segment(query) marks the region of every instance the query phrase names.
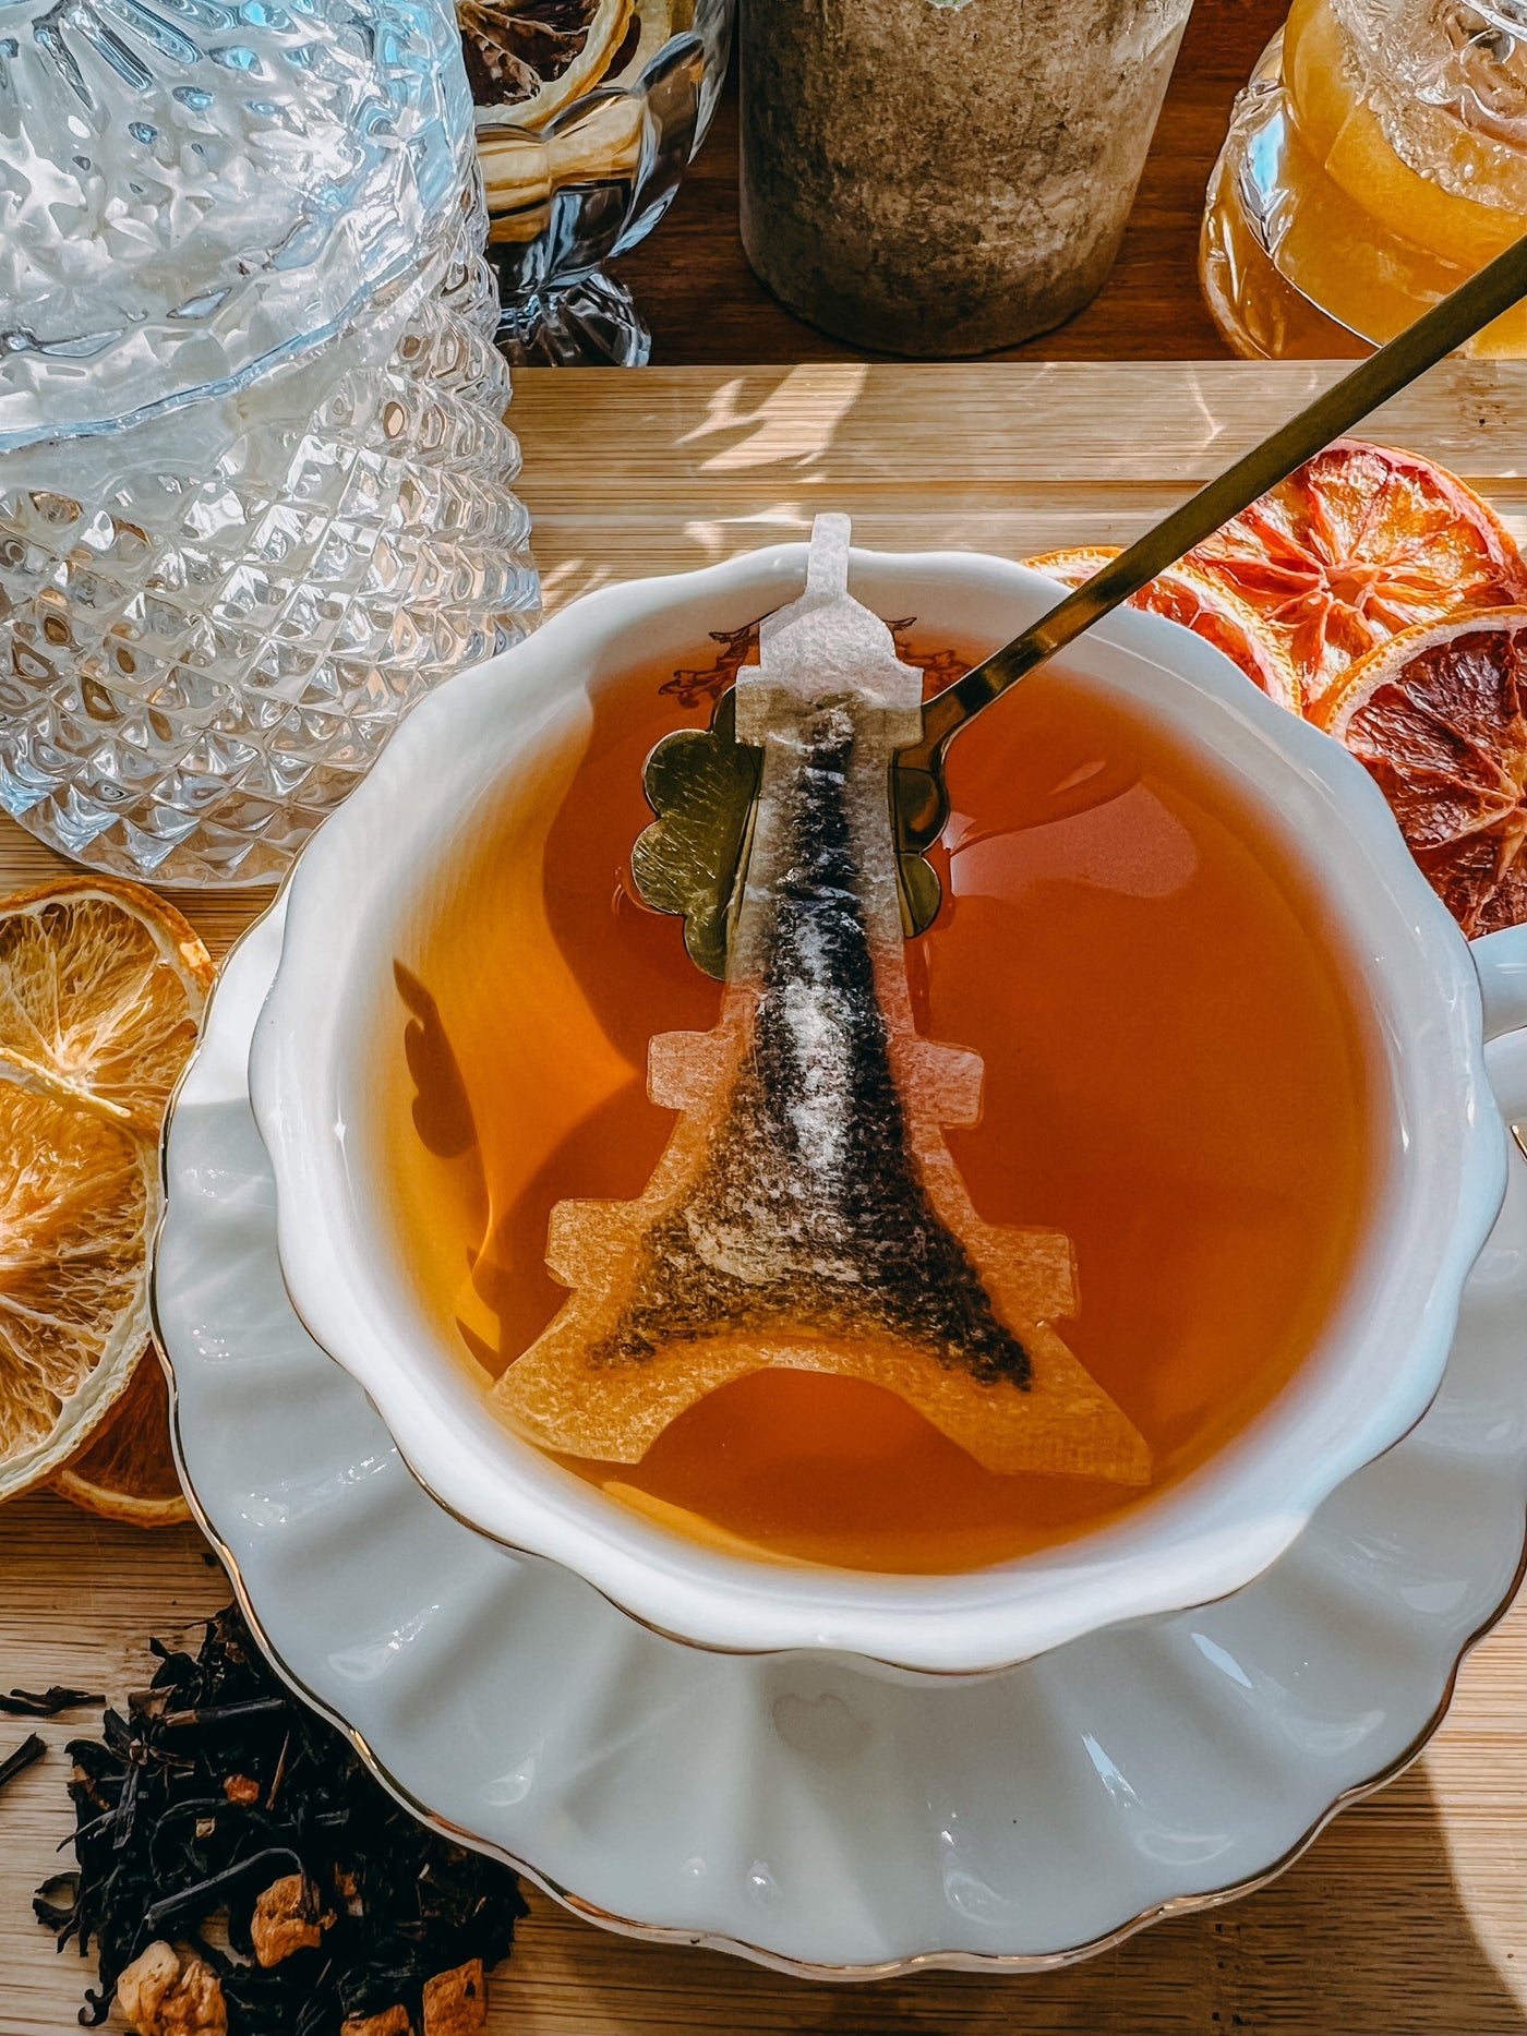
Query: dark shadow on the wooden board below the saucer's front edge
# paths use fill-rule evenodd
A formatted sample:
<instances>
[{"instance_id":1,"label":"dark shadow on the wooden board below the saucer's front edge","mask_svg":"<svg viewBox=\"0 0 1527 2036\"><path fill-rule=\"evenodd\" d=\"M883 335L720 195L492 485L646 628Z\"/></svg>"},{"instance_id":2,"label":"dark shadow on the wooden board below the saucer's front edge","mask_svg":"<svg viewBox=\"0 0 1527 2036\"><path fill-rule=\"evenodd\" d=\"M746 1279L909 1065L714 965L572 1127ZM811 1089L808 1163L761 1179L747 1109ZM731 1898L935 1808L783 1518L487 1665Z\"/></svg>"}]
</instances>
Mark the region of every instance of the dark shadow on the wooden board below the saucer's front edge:
<instances>
[{"instance_id":1,"label":"dark shadow on the wooden board below the saucer's front edge","mask_svg":"<svg viewBox=\"0 0 1527 2036\"><path fill-rule=\"evenodd\" d=\"M521 2020L521 1985L533 2024ZM566 2022L548 2016L558 1997L574 2010ZM1527 2014L1470 1924L1419 1763L1262 1893L1034 1977L808 1985L717 1953L609 1938L538 1896L495 1981L493 2030L529 2026L546 2036L1517 2036Z\"/></svg>"}]
</instances>

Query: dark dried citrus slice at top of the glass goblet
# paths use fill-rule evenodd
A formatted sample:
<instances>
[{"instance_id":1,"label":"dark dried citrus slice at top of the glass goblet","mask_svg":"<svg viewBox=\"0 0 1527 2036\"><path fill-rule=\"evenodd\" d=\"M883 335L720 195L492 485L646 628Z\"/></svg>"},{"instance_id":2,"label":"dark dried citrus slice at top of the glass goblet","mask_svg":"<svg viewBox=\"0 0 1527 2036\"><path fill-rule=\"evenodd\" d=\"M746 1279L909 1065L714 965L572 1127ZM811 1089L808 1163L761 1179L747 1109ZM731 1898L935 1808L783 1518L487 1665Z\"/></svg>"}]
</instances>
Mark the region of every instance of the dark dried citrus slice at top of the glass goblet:
<instances>
[{"instance_id":1,"label":"dark dried citrus slice at top of the glass goblet","mask_svg":"<svg viewBox=\"0 0 1527 2036\"><path fill-rule=\"evenodd\" d=\"M472 100L544 126L623 53L633 0L458 0Z\"/></svg>"}]
</instances>

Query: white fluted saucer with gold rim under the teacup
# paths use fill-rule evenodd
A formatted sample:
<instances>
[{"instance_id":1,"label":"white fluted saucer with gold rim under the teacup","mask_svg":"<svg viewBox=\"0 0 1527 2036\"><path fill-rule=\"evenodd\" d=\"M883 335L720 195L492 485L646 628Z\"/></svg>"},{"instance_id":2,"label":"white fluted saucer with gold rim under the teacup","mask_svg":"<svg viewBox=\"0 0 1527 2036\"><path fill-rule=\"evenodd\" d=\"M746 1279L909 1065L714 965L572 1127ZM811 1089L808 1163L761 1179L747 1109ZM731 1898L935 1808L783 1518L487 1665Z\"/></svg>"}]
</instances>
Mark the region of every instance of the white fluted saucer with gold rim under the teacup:
<instances>
[{"instance_id":1,"label":"white fluted saucer with gold rim under the teacup","mask_svg":"<svg viewBox=\"0 0 1527 2036\"><path fill-rule=\"evenodd\" d=\"M167 1140L177 1450L273 1661L419 1814L615 1928L871 1979L1228 1900L1421 1751L1523 1553L1519 1154L1437 1403L1248 1588L969 1684L702 1653L444 1513L297 1323L246 1081L281 930L228 963ZM1523 1024L1527 935L1494 943ZM1488 1063L1527 1118L1527 1032Z\"/></svg>"}]
</instances>

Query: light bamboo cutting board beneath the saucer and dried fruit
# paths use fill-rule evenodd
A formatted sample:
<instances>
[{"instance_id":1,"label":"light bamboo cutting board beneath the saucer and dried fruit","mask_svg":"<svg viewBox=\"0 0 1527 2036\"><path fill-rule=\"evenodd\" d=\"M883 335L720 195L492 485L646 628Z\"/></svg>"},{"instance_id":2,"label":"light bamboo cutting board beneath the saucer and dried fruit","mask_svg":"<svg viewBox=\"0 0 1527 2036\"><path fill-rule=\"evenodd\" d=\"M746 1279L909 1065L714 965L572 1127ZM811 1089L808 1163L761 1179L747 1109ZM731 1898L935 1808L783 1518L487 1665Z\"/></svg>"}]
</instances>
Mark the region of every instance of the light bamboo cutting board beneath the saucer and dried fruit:
<instances>
[{"instance_id":1,"label":"light bamboo cutting board beneath the saucer and dried fruit","mask_svg":"<svg viewBox=\"0 0 1527 2036\"><path fill-rule=\"evenodd\" d=\"M548 607L796 538L847 509L861 544L1022 558L1120 542L1336 371L1307 362L535 371L511 421ZM1452 466L1527 546L1527 375L1450 362L1370 436ZM63 863L0 823L0 892ZM224 945L257 898L177 900ZM0 1690L122 1694L149 1633L226 1602L193 1529L143 1535L51 1496L0 1513ZM0 1718L0 1755L31 1727ZM65 2036L94 1967L31 1920L71 1828L57 1749L0 1796L0 2036ZM116 2022L112 2026L118 2026ZM818 1987L605 1936L533 1898L491 2036L1527 2036L1527 1606L1464 1670L1429 1753L1281 1881L1083 1967Z\"/></svg>"}]
</instances>

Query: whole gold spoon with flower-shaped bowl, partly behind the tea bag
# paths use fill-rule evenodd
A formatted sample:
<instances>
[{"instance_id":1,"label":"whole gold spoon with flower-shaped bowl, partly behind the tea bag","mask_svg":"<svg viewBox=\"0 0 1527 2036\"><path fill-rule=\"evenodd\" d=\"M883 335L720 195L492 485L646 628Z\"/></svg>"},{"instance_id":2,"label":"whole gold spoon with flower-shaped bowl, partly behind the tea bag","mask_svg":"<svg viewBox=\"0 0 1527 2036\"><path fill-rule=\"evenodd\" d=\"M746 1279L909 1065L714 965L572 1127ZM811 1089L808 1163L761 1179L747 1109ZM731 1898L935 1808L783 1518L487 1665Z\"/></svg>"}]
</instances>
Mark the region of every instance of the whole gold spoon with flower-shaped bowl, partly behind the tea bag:
<instances>
[{"instance_id":1,"label":"whole gold spoon with flower-shaped bowl, partly behind the tea bag","mask_svg":"<svg viewBox=\"0 0 1527 2036\"><path fill-rule=\"evenodd\" d=\"M1315 397L1297 417L1279 426L1260 446L1252 446L1012 643L1004 643L924 702L922 737L898 751L890 774L902 926L908 939L924 932L939 912L939 878L926 851L949 821L945 755L955 735L1020 678L1130 595L1138 595L1195 544L1211 538L1521 297L1527 297L1527 236ZM656 821L631 849L631 875L649 906L682 914L690 959L715 977L727 973L727 939L739 878L747 867L759 761L761 749L737 741L735 700L727 690L717 700L709 729L666 735L643 772Z\"/></svg>"}]
</instances>

